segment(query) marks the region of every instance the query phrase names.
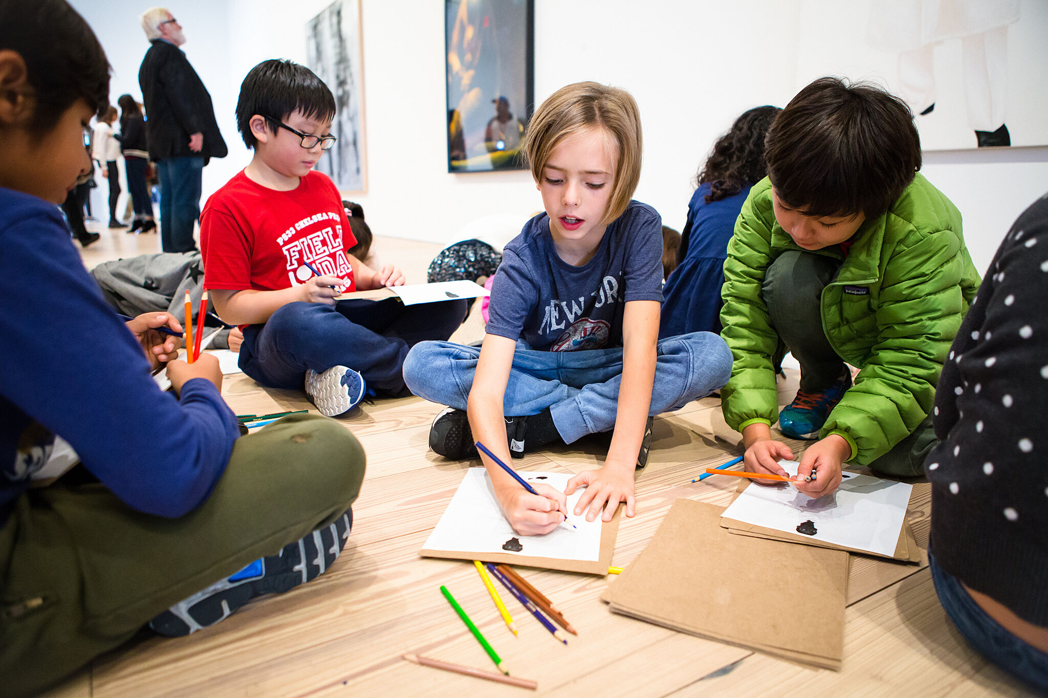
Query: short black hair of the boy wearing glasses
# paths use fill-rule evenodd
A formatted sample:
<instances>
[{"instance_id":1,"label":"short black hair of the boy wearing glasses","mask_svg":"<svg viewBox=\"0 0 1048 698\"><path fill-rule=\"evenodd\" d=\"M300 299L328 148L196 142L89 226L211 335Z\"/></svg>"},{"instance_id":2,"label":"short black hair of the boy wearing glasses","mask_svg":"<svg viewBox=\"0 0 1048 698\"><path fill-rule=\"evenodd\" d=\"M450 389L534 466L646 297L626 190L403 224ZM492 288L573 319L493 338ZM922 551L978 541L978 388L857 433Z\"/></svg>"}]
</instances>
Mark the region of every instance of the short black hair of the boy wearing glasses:
<instances>
[{"instance_id":1,"label":"short black hair of the boy wearing glasses","mask_svg":"<svg viewBox=\"0 0 1048 698\"><path fill-rule=\"evenodd\" d=\"M268 128L279 128L271 119L283 121L293 112L307 118L334 118L334 95L312 70L291 61L271 59L248 71L240 85L237 99L237 130L247 148L258 140L252 133L250 120L256 114L266 117Z\"/></svg>"}]
</instances>

